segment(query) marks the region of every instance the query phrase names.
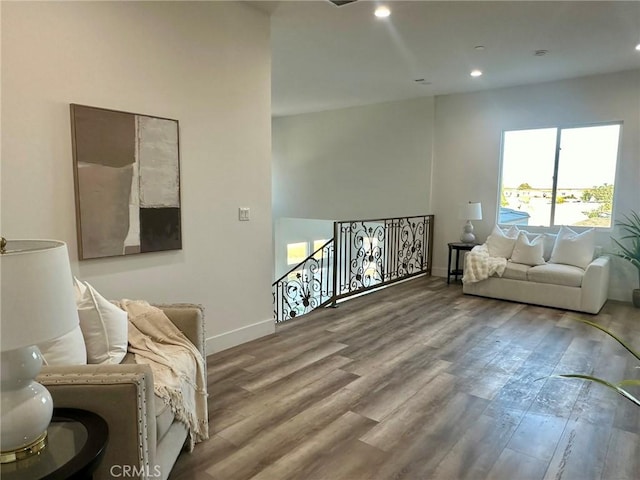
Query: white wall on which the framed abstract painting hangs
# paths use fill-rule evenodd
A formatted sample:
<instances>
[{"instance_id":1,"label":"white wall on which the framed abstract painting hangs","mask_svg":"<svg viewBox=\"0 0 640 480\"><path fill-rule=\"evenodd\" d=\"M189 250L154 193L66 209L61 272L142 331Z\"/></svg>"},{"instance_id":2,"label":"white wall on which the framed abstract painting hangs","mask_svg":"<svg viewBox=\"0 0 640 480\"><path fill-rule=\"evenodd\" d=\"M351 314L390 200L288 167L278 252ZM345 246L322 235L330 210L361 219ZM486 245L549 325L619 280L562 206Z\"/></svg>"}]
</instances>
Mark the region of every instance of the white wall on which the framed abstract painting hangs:
<instances>
[{"instance_id":1,"label":"white wall on which the framed abstract painting hangs","mask_svg":"<svg viewBox=\"0 0 640 480\"><path fill-rule=\"evenodd\" d=\"M108 298L203 304L210 351L273 332L270 56L239 2L3 2L2 234L65 240ZM181 251L78 262L70 103L179 120Z\"/></svg>"}]
</instances>

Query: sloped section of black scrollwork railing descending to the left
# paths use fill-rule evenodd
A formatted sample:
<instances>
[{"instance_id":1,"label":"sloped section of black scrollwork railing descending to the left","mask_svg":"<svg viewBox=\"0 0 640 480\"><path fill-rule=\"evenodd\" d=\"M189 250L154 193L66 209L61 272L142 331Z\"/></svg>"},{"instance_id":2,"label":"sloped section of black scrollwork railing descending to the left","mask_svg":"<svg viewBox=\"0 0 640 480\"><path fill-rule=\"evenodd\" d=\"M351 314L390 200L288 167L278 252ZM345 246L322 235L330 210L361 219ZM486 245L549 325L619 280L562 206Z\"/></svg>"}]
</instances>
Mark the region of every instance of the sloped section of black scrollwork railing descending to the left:
<instances>
[{"instance_id":1,"label":"sloped section of black scrollwork railing descending to the left","mask_svg":"<svg viewBox=\"0 0 640 480\"><path fill-rule=\"evenodd\" d=\"M273 284L273 313L277 323L309 313L331 301L333 250L333 240L329 240Z\"/></svg>"}]
</instances>

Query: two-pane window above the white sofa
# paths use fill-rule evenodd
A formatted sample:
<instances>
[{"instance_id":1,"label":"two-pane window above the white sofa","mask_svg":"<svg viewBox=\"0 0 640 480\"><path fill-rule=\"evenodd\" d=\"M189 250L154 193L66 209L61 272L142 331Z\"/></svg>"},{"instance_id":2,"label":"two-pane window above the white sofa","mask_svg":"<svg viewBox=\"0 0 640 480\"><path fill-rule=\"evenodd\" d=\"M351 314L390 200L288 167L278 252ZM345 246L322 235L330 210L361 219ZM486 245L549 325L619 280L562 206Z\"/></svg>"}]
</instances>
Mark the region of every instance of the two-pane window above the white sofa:
<instances>
[{"instance_id":1,"label":"two-pane window above the white sofa","mask_svg":"<svg viewBox=\"0 0 640 480\"><path fill-rule=\"evenodd\" d=\"M611 227L620 130L505 131L498 223Z\"/></svg>"}]
</instances>

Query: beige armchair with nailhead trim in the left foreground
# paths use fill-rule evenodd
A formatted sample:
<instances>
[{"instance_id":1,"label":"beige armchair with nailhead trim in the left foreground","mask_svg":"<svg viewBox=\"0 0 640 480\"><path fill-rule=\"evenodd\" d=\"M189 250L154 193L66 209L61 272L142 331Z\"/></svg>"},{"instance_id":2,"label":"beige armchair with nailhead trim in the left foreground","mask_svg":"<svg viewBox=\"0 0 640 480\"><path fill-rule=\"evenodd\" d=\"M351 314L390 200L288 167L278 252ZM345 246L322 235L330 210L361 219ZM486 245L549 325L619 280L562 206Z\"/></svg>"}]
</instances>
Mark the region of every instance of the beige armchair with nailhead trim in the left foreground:
<instances>
[{"instance_id":1,"label":"beige armchair with nailhead trim in the left foreground","mask_svg":"<svg viewBox=\"0 0 640 480\"><path fill-rule=\"evenodd\" d=\"M186 304L160 308L205 358L202 308ZM45 366L38 381L51 392L55 407L89 410L109 425L109 443L94 479L169 476L187 428L154 395L149 366L134 363L127 354L119 365Z\"/></svg>"}]
</instances>

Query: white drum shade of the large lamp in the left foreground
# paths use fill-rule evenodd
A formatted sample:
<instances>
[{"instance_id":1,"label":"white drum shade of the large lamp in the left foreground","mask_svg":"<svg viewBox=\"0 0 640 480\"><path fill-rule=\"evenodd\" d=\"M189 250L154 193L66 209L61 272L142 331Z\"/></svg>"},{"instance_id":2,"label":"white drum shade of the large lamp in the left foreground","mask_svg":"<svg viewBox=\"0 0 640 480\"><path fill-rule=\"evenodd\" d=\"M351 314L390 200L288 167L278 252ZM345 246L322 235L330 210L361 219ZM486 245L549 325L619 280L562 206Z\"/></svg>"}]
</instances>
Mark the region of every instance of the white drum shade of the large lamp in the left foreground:
<instances>
[{"instance_id":1,"label":"white drum shade of the large lamp in the left foreground","mask_svg":"<svg viewBox=\"0 0 640 480\"><path fill-rule=\"evenodd\" d=\"M0 254L1 348L37 345L79 323L67 245L56 240L9 240Z\"/></svg>"}]
</instances>

